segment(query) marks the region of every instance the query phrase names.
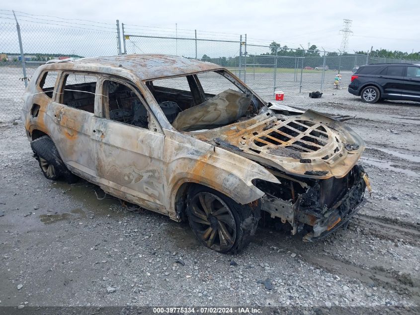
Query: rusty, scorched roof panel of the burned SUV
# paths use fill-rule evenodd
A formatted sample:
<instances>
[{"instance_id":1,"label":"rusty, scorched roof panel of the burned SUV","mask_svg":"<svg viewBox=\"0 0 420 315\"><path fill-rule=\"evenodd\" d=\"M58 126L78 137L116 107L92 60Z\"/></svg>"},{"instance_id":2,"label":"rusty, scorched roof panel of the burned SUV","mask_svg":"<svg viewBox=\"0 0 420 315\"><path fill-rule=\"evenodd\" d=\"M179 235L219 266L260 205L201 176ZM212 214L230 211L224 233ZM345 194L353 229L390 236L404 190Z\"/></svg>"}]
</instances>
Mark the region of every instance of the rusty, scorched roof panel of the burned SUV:
<instances>
[{"instance_id":1,"label":"rusty, scorched roof panel of the burned SUV","mask_svg":"<svg viewBox=\"0 0 420 315\"><path fill-rule=\"evenodd\" d=\"M123 68L136 75L141 80L182 76L191 73L223 69L223 67L205 61L184 58L180 56L158 54L133 54L105 57L89 57L68 62L80 68L83 65L98 66L102 72L115 72ZM112 68L112 69L109 69Z\"/></svg>"}]
</instances>

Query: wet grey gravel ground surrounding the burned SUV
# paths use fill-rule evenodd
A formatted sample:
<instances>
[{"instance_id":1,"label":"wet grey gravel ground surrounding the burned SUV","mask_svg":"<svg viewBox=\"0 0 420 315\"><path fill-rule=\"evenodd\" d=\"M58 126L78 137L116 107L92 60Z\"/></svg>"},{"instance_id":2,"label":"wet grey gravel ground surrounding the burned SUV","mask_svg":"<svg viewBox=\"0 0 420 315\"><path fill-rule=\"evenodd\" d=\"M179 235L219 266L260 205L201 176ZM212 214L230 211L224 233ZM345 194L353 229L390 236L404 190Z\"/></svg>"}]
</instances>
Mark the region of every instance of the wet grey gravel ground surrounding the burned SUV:
<instances>
[{"instance_id":1,"label":"wet grey gravel ground surrounding the burned SUV","mask_svg":"<svg viewBox=\"0 0 420 315\"><path fill-rule=\"evenodd\" d=\"M325 240L261 227L235 256L199 245L186 223L99 201L85 181L48 181L10 113L0 123L0 306L418 306L420 104L367 105L332 84L321 99L290 92L283 104L356 115L348 124L366 142L372 196Z\"/></svg>"}]
</instances>

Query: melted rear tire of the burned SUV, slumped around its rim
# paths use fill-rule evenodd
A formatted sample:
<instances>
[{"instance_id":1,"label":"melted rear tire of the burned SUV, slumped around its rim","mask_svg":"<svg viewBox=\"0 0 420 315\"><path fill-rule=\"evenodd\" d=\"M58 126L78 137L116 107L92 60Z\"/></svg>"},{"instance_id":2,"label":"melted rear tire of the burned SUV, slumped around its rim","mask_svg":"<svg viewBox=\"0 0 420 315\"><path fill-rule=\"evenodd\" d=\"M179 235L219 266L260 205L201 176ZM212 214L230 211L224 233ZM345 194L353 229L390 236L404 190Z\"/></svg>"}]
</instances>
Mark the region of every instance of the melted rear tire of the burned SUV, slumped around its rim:
<instances>
[{"instance_id":1,"label":"melted rear tire of the burned SUV, slumped around its rim","mask_svg":"<svg viewBox=\"0 0 420 315\"><path fill-rule=\"evenodd\" d=\"M64 178L68 183L75 183L78 180L78 177L64 164L63 160L58 153L57 147L55 146L53 140L49 136L39 137L31 142L32 151L35 153L35 158L39 162L44 176L49 180L57 180L59 178ZM54 166L54 175L48 174L44 171L41 165L41 159L47 161L49 164Z\"/></svg>"}]
</instances>

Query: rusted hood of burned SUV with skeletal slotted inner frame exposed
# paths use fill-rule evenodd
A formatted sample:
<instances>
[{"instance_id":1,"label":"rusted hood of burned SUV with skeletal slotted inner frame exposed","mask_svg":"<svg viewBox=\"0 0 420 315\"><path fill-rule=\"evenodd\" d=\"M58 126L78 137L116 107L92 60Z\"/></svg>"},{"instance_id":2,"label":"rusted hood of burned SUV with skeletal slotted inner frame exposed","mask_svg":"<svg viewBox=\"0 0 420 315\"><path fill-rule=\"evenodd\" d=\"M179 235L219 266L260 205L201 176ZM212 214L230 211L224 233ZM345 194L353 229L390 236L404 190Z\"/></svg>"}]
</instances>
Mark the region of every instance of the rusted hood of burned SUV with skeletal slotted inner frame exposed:
<instances>
[{"instance_id":1,"label":"rusted hood of burned SUV with skeletal slotted inner frame exposed","mask_svg":"<svg viewBox=\"0 0 420 315\"><path fill-rule=\"evenodd\" d=\"M314 110L283 115L268 109L246 121L189 134L260 164L309 178L345 176L365 147L344 122Z\"/></svg>"}]
</instances>

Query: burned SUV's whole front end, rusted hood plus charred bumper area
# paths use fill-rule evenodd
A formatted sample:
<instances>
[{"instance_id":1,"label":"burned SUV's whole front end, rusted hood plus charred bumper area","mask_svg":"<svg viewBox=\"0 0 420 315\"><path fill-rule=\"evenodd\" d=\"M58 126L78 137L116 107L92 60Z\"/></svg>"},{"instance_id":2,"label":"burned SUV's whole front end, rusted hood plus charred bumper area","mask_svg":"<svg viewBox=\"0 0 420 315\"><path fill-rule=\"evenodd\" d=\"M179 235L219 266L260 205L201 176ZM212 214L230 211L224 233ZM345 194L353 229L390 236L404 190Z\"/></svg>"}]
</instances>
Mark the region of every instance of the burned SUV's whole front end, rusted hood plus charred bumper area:
<instances>
[{"instance_id":1,"label":"burned SUV's whole front end, rusted hood plus charred bumper area","mask_svg":"<svg viewBox=\"0 0 420 315\"><path fill-rule=\"evenodd\" d=\"M313 241L345 224L370 189L363 168L356 165L364 142L332 117L275 108L190 134L264 166L280 184L253 180L265 193L262 210L290 224L292 234L306 231L304 240Z\"/></svg>"}]
</instances>

